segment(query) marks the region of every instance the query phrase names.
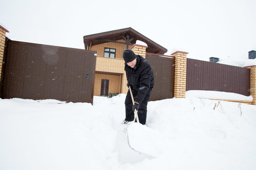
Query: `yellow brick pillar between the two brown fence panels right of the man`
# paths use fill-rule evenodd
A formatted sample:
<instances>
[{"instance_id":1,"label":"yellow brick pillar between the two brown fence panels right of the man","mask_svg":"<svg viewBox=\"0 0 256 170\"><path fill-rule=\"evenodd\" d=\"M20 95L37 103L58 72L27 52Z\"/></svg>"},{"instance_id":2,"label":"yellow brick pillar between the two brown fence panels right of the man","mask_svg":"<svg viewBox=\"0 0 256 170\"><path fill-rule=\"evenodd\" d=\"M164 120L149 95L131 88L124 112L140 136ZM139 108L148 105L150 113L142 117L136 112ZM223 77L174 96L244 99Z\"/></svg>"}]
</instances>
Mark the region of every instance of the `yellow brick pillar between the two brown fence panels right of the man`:
<instances>
[{"instance_id":1,"label":"yellow brick pillar between the two brown fence panels right of the man","mask_svg":"<svg viewBox=\"0 0 256 170\"><path fill-rule=\"evenodd\" d=\"M186 73L187 73L187 54L177 51L171 54L175 57L175 76L174 76L174 97L185 98L186 93Z\"/></svg>"}]
</instances>

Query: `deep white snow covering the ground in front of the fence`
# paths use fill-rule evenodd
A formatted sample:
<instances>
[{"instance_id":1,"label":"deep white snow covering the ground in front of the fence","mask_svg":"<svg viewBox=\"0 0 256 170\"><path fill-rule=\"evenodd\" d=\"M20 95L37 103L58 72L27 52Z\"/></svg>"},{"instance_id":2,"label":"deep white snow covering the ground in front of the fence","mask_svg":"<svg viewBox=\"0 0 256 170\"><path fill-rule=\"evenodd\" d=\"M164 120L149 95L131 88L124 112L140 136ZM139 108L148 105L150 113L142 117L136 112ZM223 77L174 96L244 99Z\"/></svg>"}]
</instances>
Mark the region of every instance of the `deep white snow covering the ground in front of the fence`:
<instances>
[{"instance_id":1,"label":"deep white snow covering the ground in front of the fence","mask_svg":"<svg viewBox=\"0 0 256 170\"><path fill-rule=\"evenodd\" d=\"M149 102L154 133L143 133L141 150L154 147L152 158L129 147L124 99L0 99L0 169L256 169L256 106L194 96ZM129 135L142 135L132 125Z\"/></svg>"}]
</instances>

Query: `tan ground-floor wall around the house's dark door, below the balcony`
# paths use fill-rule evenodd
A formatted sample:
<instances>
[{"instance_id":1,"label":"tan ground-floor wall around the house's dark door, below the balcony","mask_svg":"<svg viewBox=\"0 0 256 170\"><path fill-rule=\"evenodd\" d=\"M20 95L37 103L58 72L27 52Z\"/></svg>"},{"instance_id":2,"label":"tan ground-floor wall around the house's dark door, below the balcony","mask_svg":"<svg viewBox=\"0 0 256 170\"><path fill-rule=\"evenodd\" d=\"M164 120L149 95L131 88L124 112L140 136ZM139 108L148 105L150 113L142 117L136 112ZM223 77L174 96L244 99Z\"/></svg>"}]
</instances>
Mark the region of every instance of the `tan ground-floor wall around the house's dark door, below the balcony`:
<instances>
[{"instance_id":1,"label":"tan ground-floor wall around the house's dark door, below the balcony","mask_svg":"<svg viewBox=\"0 0 256 170\"><path fill-rule=\"evenodd\" d=\"M100 95L101 80L109 80L109 93L120 93L121 75L95 74L94 95Z\"/></svg>"}]
</instances>

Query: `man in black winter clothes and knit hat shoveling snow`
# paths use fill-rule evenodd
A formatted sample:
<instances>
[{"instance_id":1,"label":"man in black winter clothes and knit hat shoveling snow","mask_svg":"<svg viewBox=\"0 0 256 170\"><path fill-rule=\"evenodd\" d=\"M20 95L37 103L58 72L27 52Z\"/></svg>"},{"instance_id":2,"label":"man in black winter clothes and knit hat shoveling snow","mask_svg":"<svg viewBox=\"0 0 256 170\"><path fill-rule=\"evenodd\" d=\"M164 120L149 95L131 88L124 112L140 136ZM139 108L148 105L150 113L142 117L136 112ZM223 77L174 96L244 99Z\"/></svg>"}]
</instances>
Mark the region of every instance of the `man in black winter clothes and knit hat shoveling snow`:
<instances>
[{"instance_id":1,"label":"man in black winter clothes and knit hat shoveling snow","mask_svg":"<svg viewBox=\"0 0 256 170\"><path fill-rule=\"evenodd\" d=\"M140 55L136 55L132 50L123 51L125 61L124 70L126 72L127 86L131 91L127 92L125 98L125 119L123 124L134 120L134 111L138 111L138 119L142 125L146 123L147 102L150 99L152 88L154 87L154 74L150 63ZM134 96L134 104L132 101Z\"/></svg>"}]
</instances>

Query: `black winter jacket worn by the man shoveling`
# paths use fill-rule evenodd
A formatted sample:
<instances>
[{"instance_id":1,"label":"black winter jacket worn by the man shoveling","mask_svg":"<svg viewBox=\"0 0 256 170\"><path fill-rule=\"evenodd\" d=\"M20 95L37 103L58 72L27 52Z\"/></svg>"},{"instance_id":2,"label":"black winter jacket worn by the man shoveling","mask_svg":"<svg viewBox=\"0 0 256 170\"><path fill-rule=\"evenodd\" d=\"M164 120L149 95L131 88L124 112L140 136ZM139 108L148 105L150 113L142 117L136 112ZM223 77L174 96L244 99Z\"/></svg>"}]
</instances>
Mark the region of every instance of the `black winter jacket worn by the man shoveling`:
<instances>
[{"instance_id":1,"label":"black winter jacket worn by the man shoveling","mask_svg":"<svg viewBox=\"0 0 256 170\"><path fill-rule=\"evenodd\" d=\"M137 62L134 68L125 64L127 86L137 93L135 102L143 101L148 89L154 87L154 74L150 63L142 56L137 55Z\"/></svg>"}]
</instances>

